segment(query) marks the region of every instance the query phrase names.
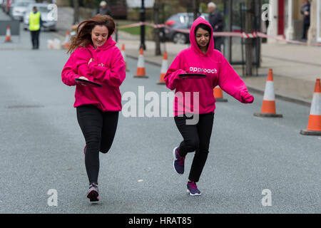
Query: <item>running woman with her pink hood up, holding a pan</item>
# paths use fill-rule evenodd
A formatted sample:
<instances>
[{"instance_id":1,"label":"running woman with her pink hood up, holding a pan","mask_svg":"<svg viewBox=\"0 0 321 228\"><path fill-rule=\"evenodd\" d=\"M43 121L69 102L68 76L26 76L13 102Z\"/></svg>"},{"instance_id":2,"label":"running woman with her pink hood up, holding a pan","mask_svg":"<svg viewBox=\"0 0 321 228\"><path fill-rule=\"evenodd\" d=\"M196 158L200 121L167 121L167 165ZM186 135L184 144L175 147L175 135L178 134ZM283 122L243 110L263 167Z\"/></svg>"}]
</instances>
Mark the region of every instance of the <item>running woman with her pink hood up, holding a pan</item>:
<instances>
[{"instance_id":1,"label":"running woman with her pink hood up, holding a pan","mask_svg":"<svg viewBox=\"0 0 321 228\"><path fill-rule=\"evenodd\" d=\"M187 189L190 195L200 195L196 182L210 147L215 110L213 88L220 86L241 103L253 103L254 98L222 53L214 49L213 28L208 21L199 17L193 22L190 44L190 48L178 53L164 81L170 90L175 90L174 119L183 136L183 141L173 150L173 167L183 175L185 156L195 151ZM185 73L200 73L206 77L179 76Z\"/></svg>"}]
</instances>

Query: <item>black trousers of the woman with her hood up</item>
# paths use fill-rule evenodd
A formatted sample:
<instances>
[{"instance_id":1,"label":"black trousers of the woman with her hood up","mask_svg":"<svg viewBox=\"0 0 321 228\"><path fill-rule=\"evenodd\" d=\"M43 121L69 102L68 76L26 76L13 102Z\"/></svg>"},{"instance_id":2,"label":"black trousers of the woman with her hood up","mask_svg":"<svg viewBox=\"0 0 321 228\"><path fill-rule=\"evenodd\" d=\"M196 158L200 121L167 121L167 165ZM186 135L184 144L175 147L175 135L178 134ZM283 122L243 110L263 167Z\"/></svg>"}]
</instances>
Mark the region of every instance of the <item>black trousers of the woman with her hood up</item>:
<instances>
[{"instance_id":1,"label":"black trousers of the woman with her hood up","mask_svg":"<svg viewBox=\"0 0 321 228\"><path fill-rule=\"evenodd\" d=\"M195 151L188 179L198 182L208 158L214 113L200 114L198 123L195 125L186 125L186 119L188 118L185 115L183 117L175 116L174 119L180 134L183 136L183 142L180 142L178 153L185 157L188 152Z\"/></svg>"}]
</instances>

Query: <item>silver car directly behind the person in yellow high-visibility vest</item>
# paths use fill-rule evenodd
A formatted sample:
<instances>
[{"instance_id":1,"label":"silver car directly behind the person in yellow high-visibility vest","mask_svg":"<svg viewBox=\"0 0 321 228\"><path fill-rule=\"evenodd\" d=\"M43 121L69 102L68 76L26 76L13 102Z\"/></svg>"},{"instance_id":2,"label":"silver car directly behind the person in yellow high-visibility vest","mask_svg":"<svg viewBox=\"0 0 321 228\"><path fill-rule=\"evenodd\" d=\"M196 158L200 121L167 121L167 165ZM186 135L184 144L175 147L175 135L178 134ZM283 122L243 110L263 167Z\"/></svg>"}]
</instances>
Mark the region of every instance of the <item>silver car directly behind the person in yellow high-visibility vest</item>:
<instances>
[{"instance_id":1,"label":"silver car directly behind the person in yellow high-visibility vest","mask_svg":"<svg viewBox=\"0 0 321 228\"><path fill-rule=\"evenodd\" d=\"M49 9L50 4L29 4L28 9L26 10L26 14L24 14L24 30L29 30L29 16L32 12L34 6L38 8L41 14L42 20L42 29L43 30L51 30L56 31L56 21L52 18L51 10Z\"/></svg>"}]
</instances>

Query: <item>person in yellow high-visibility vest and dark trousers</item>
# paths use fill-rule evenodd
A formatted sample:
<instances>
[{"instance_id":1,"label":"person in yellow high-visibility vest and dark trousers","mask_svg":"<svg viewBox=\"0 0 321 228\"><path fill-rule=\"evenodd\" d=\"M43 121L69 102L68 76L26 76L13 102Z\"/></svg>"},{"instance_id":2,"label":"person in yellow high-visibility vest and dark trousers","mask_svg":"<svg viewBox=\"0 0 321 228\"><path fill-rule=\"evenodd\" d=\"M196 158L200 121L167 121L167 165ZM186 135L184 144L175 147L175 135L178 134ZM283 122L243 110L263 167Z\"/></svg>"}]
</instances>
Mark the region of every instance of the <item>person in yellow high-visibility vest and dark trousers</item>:
<instances>
[{"instance_id":1,"label":"person in yellow high-visibility vest and dark trousers","mask_svg":"<svg viewBox=\"0 0 321 228\"><path fill-rule=\"evenodd\" d=\"M32 49L39 49L39 34L41 30L41 14L34 6L29 15L29 31L31 32Z\"/></svg>"}]
</instances>

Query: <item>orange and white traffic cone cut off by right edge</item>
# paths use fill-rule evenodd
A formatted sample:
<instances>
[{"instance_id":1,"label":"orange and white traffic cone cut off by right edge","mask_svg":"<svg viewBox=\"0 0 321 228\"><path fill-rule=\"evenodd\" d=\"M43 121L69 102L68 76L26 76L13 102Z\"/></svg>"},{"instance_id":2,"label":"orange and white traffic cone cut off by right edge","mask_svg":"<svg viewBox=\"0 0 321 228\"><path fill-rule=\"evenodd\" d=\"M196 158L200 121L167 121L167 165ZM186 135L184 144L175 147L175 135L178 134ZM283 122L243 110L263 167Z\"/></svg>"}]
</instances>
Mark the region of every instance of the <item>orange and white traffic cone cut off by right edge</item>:
<instances>
[{"instance_id":1,"label":"orange and white traffic cone cut off by right edge","mask_svg":"<svg viewBox=\"0 0 321 228\"><path fill-rule=\"evenodd\" d=\"M315 93L313 93L309 122L307 130L301 130L302 135L321 135L321 85L320 78L315 82Z\"/></svg>"}]
</instances>

